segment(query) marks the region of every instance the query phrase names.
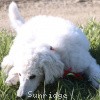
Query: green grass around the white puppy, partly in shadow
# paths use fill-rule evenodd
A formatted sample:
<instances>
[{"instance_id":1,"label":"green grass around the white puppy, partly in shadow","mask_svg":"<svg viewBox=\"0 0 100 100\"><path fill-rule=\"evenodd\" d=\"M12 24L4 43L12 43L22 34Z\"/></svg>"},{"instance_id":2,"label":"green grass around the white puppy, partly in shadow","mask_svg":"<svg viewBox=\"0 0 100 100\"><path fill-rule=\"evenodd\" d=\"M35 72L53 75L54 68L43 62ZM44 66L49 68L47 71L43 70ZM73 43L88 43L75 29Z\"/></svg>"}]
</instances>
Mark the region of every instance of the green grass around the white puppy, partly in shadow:
<instances>
[{"instance_id":1,"label":"green grass around the white puppy, partly in shadow","mask_svg":"<svg viewBox=\"0 0 100 100\"><path fill-rule=\"evenodd\" d=\"M93 19L81 28L91 43L91 54L100 64L100 23ZM7 34L8 32L5 30L0 32L0 62L8 53L14 38ZM0 100L16 100L17 89L18 86L6 86L0 72ZM46 86L41 83L35 91L34 100L100 100L99 92L91 86L87 79L79 80L73 76L66 76L66 79L58 79L55 83ZM43 97L43 94L46 96Z\"/></svg>"}]
</instances>

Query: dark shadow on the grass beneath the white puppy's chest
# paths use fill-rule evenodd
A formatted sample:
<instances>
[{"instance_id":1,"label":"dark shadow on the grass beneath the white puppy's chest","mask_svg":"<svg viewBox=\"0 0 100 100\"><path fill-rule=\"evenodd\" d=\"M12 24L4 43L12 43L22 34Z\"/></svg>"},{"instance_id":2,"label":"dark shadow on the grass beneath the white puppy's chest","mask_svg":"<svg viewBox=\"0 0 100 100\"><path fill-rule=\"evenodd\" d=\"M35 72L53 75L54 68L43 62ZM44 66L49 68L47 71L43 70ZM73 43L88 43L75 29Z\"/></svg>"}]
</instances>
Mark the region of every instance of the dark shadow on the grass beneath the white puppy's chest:
<instances>
[{"instance_id":1,"label":"dark shadow on the grass beneath the white puppy's chest","mask_svg":"<svg viewBox=\"0 0 100 100\"><path fill-rule=\"evenodd\" d=\"M91 100L96 95L96 89L87 79L79 80L73 76L66 76L54 84L44 86L42 83L33 94L33 98L34 100Z\"/></svg>"}]
</instances>

